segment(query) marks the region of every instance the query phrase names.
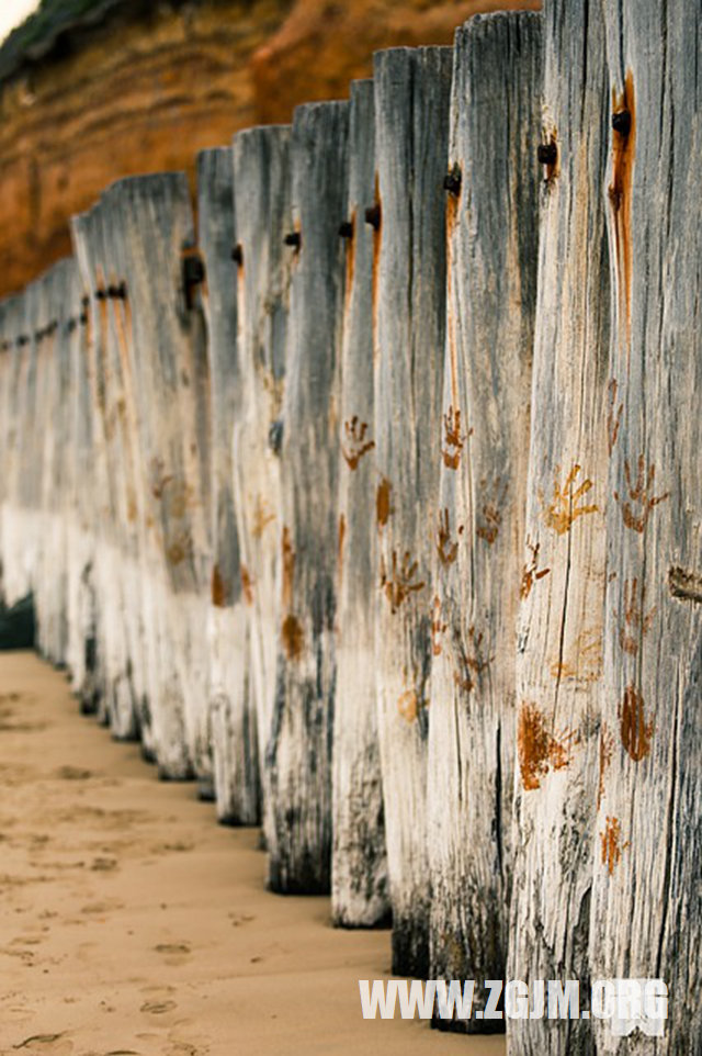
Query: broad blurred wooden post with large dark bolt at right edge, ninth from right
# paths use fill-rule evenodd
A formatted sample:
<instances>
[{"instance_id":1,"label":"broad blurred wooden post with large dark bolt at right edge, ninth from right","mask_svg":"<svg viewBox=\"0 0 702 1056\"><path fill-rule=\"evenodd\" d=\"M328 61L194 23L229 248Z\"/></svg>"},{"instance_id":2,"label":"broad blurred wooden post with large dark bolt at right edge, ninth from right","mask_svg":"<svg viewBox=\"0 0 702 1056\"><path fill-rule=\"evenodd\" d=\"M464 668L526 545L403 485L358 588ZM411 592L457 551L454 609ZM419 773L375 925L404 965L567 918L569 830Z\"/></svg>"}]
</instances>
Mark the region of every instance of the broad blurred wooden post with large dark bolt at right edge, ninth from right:
<instances>
[{"instance_id":1,"label":"broad blurred wooden post with large dark bolt at right edge, ninth from right","mask_svg":"<svg viewBox=\"0 0 702 1056\"><path fill-rule=\"evenodd\" d=\"M121 216L124 323L132 360L146 518L145 621L150 729L163 776L212 774L206 622L210 553L208 372L196 304L202 266L182 173L140 177L106 195ZM188 261L188 262L186 262Z\"/></svg>"}]
</instances>

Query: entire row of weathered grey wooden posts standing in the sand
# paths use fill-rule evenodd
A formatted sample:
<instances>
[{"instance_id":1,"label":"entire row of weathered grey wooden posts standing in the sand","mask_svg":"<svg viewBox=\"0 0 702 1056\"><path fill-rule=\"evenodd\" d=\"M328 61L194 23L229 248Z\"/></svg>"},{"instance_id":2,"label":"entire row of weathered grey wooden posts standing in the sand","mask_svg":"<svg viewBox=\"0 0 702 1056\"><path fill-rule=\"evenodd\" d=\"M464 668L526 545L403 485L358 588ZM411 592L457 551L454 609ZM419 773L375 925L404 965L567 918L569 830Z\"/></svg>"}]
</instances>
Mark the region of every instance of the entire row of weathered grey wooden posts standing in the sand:
<instances>
[{"instance_id":1,"label":"entire row of weathered grey wooden posts standing in the sand","mask_svg":"<svg viewBox=\"0 0 702 1056\"><path fill-rule=\"evenodd\" d=\"M86 711L398 974L664 977L646 1056L702 1037L690 8L380 53L0 305L2 591Z\"/></svg>"}]
</instances>

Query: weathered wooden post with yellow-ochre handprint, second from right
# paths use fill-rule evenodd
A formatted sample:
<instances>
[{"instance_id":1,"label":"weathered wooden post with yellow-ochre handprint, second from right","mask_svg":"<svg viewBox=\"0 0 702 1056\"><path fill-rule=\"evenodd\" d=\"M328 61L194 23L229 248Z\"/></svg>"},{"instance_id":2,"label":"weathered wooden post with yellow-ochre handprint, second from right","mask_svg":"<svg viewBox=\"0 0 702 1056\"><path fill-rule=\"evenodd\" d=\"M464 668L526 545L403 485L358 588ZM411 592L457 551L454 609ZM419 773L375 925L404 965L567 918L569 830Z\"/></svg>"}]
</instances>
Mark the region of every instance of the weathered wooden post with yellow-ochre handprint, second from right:
<instances>
[{"instance_id":1,"label":"weathered wooden post with yellow-ochre handprint, second from right","mask_svg":"<svg viewBox=\"0 0 702 1056\"><path fill-rule=\"evenodd\" d=\"M517 655L517 847L508 978L587 980L597 809L609 268L601 10L546 5L543 193ZM591 1052L587 1021L511 1020L511 1054Z\"/></svg>"}]
</instances>

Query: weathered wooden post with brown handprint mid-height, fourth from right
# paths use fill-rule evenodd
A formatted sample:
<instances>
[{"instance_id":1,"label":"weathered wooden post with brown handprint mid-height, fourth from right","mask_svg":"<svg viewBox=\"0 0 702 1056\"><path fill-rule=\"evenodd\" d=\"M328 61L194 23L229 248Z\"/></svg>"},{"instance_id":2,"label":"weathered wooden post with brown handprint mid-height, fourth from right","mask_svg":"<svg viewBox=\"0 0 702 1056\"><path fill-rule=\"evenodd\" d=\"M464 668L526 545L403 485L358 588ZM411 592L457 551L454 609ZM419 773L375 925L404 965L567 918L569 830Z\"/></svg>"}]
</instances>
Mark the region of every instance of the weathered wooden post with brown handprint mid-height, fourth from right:
<instances>
[{"instance_id":1,"label":"weathered wooden post with brown handprint mid-height, fourth from right","mask_svg":"<svg viewBox=\"0 0 702 1056\"><path fill-rule=\"evenodd\" d=\"M427 977L427 737L431 569L445 329L451 48L375 56L378 195L374 429L378 472L378 735L393 903L393 971ZM372 203L370 203L372 204Z\"/></svg>"}]
</instances>

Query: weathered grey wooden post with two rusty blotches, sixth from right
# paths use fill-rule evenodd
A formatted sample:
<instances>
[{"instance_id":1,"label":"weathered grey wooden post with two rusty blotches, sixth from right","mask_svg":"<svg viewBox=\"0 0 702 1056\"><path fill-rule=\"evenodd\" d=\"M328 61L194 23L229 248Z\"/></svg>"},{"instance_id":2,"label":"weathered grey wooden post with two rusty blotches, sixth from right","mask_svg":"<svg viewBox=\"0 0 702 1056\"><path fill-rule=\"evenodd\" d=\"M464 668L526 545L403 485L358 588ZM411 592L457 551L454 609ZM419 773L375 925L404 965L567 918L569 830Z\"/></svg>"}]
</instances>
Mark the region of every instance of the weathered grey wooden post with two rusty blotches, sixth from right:
<instances>
[{"instance_id":1,"label":"weathered grey wooden post with two rusty blotches, sixth from right","mask_svg":"<svg viewBox=\"0 0 702 1056\"><path fill-rule=\"evenodd\" d=\"M349 105L295 111L291 141L296 255L281 450L278 677L268 745L273 890L329 890L339 427Z\"/></svg>"}]
</instances>

